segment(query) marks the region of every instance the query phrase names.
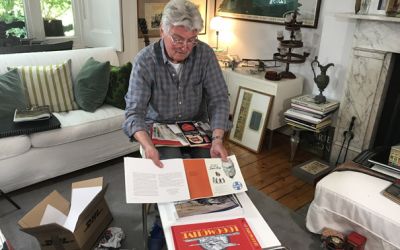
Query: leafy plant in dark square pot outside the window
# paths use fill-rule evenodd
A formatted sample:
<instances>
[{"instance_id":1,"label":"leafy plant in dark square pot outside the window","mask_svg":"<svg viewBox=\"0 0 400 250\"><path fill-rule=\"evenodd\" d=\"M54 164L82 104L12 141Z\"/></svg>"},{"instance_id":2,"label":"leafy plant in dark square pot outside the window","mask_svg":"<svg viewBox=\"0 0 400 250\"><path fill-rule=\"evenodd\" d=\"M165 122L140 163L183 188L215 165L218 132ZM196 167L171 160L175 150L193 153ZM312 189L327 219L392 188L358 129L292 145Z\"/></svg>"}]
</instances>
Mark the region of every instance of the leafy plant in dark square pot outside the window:
<instances>
[{"instance_id":1,"label":"leafy plant in dark square pot outside the window","mask_svg":"<svg viewBox=\"0 0 400 250\"><path fill-rule=\"evenodd\" d=\"M41 5L46 36L64 36L63 23L59 18L71 9L71 1L42 0Z\"/></svg>"}]
</instances>

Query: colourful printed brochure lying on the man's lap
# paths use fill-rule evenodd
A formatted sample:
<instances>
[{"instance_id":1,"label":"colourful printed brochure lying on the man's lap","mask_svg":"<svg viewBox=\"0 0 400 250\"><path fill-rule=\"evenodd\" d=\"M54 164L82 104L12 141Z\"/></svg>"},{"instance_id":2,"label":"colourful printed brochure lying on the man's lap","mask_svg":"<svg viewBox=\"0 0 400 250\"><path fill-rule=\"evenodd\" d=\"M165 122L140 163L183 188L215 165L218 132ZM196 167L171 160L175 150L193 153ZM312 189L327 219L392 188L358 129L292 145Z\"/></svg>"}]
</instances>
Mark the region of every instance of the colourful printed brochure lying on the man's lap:
<instances>
[{"instance_id":1,"label":"colourful printed brochure lying on the man's lap","mask_svg":"<svg viewBox=\"0 0 400 250\"><path fill-rule=\"evenodd\" d=\"M211 144L211 128L205 122L154 123L151 138L156 146L199 147Z\"/></svg>"}]
</instances>

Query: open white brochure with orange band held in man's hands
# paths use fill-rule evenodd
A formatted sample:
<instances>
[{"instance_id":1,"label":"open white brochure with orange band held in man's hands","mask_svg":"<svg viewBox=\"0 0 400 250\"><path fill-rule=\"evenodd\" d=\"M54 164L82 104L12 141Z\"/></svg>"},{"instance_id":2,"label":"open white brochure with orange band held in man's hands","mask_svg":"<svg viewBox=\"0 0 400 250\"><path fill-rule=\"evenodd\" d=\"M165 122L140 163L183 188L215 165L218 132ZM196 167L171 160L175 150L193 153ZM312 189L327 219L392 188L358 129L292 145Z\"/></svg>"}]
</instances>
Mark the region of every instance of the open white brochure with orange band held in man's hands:
<instances>
[{"instance_id":1,"label":"open white brochure with orange band held in man's hands","mask_svg":"<svg viewBox=\"0 0 400 250\"><path fill-rule=\"evenodd\" d=\"M234 155L220 158L162 160L125 157L127 203L172 202L240 193L247 190Z\"/></svg>"}]
</instances>

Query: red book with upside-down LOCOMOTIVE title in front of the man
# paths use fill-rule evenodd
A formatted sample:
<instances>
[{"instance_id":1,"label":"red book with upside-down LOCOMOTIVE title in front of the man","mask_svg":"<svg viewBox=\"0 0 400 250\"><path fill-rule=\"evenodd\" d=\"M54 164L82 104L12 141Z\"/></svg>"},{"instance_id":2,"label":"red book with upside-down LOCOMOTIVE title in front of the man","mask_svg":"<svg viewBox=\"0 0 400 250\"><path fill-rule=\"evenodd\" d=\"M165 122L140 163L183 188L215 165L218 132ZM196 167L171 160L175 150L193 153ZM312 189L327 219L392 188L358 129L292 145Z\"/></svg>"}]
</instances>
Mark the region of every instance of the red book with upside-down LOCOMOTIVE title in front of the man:
<instances>
[{"instance_id":1,"label":"red book with upside-down LOCOMOTIVE title in front of the man","mask_svg":"<svg viewBox=\"0 0 400 250\"><path fill-rule=\"evenodd\" d=\"M261 249L245 218L171 227L175 249Z\"/></svg>"}]
</instances>

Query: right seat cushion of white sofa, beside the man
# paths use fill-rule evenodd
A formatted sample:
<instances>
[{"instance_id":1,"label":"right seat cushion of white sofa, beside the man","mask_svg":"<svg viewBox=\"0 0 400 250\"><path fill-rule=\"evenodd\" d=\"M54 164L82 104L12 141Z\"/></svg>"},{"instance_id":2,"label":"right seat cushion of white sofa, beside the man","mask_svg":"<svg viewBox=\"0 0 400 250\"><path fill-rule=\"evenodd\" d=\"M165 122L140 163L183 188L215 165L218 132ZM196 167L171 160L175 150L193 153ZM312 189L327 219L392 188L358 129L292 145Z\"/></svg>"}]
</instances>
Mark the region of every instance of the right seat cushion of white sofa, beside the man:
<instances>
[{"instance_id":1,"label":"right seat cushion of white sofa, beside the man","mask_svg":"<svg viewBox=\"0 0 400 250\"><path fill-rule=\"evenodd\" d=\"M51 147L120 130L124 111L103 105L95 112L73 110L54 113L61 128L30 135L32 147Z\"/></svg>"}]
</instances>

